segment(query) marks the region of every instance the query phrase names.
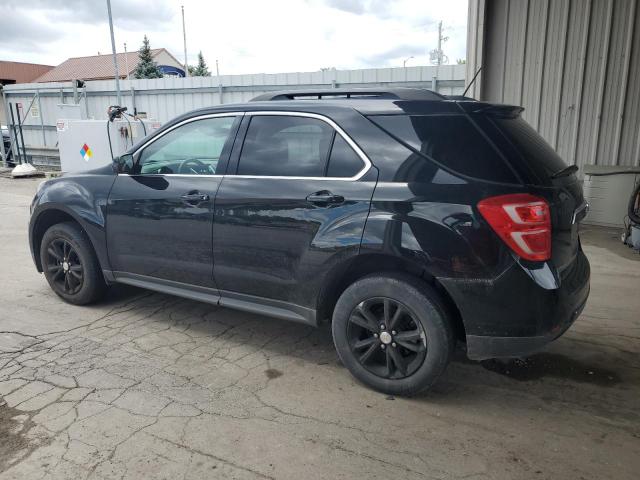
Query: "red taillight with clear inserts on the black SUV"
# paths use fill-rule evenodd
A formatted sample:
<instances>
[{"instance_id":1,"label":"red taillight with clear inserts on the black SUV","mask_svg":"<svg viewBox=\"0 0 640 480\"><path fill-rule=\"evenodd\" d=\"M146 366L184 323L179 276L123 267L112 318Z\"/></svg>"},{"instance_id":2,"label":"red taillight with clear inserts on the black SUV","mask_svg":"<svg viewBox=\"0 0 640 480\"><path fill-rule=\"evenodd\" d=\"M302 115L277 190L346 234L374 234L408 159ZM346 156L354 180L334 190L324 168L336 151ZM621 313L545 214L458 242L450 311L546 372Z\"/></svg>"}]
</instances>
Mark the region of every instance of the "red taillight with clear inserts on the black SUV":
<instances>
[{"instance_id":1,"label":"red taillight with clear inserts on the black SUV","mask_svg":"<svg viewBox=\"0 0 640 480\"><path fill-rule=\"evenodd\" d=\"M549 204L528 193L489 197L478 210L491 228L517 255L534 261L551 258Z\"/></svg>"}]
</instances>

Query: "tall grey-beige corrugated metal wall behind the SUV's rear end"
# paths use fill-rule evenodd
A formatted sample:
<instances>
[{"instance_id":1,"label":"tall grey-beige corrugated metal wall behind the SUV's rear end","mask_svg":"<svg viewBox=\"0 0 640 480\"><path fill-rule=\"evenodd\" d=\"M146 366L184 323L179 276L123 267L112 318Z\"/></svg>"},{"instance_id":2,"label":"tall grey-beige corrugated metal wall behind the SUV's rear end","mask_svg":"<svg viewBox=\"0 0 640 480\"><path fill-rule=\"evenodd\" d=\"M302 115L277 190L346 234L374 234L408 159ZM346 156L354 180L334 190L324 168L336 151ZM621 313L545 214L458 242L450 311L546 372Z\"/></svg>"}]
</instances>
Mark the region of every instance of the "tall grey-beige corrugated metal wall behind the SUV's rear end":
<instances>
[{"instance_id":1,"label":"tall grey-beige corrugated metal wall behind the SUV's rear end","mask_svg":"<svg viewBox=\"0 0 640 480\"><path fill-rule=\"evenodd\" d=\"M470 0L475 98L522 105L569 163L640 164L637 0Z\"/></svg>"}]
</instances>

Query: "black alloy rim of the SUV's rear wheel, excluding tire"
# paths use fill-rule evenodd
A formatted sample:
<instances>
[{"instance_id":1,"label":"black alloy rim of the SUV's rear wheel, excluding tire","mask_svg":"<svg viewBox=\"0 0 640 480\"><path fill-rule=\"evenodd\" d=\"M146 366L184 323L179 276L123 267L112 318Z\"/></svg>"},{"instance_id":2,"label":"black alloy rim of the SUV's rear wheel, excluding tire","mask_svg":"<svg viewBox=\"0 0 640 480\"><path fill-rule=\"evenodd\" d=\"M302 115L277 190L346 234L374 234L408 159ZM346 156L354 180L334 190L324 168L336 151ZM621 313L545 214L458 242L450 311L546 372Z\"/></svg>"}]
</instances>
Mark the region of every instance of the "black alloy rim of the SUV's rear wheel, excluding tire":
<instances>
[{"instance_id":1,"label":"black alloy rim of the SUV's rear wheel, excluding tire","mask_svg":"<svg viewBox=\"0 0 640 480\"><path fill-rule=\"evenodd\" d=\"M347 338L362 367L386 379L415 373L427 355L427 337L409 307L385 297L367 299L349 316Z\"/></svg>"}]
</instances>

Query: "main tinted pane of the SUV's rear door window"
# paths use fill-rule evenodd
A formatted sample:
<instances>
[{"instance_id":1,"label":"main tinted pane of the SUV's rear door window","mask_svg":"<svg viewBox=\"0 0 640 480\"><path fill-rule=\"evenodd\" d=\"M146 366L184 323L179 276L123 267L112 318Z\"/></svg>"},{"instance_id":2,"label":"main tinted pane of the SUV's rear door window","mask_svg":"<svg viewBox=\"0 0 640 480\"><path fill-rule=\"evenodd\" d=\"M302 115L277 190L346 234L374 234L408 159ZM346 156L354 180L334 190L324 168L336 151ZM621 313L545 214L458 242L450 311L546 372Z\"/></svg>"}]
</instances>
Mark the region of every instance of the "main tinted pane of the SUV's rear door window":
<instances>
[{"instance_id":1,"label":"main tinted pane of the SUV's rear door window","mask_svg":"<svg viewBox=\"0 0 640 480\"><path fill-rule=\"evenodd\" d=\"M333 128L307 117L251 118L238 164L239 175L322 177Z\"/></svg>"}]
</instances>

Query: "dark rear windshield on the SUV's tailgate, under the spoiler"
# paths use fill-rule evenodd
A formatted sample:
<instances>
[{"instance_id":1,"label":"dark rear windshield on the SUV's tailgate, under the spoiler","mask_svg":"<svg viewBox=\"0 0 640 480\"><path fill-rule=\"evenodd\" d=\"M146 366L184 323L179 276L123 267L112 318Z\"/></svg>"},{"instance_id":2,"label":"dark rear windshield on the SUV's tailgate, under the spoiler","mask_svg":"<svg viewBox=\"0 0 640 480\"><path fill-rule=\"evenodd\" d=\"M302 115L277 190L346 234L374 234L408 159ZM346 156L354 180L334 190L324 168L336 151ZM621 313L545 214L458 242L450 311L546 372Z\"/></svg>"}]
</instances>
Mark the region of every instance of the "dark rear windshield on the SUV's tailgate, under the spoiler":
<instances>
[{"instance_id":1,"label":"dark rear windshield on the SUV's tailgate, under the spoiler","mask_svg":"<svg viewBox=\"0 0 640 480\"><path fill-rule=\"evenodd\" d=\"M524 166L539 179L562 170L567 164L553 148L522 117L505 118L488 115L474 115L480 127L493 140L512 162L524 163Z\"/></svg>"}]
</instances>

